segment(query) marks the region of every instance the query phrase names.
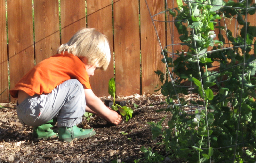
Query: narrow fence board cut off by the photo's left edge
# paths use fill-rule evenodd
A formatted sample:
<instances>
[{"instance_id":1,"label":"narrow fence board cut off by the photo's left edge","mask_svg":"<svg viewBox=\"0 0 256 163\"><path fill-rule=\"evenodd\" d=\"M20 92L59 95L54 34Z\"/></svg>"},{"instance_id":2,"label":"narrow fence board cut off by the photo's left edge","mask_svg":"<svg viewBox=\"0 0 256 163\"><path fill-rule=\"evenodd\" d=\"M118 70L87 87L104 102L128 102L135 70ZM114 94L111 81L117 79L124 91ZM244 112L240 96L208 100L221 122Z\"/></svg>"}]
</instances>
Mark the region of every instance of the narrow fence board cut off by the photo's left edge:
<instances>
[{"instance_id":1,"label":"narrow fence board cut off by the photo's left edge","mask_svg":"<svg viewBox=\"0 0 256 163\"><path fill-rule=\"evenodd\" d=\"M2 93L2 95L0 95L0 102L9 101L7 62L8 61L7 61L5 0L0 0L0 94Z\"/></svg>"}]
</instances>

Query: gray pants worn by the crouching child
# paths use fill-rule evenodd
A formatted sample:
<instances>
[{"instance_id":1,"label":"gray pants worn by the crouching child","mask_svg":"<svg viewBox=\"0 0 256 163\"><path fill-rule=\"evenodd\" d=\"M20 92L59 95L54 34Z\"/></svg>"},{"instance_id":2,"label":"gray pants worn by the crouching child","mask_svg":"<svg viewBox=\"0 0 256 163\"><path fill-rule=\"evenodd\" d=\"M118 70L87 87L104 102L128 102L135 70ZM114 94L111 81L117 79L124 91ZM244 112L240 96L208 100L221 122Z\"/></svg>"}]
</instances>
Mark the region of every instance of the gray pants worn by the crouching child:
<instances>
[{"instance_id":1,"label":"gray pants worn by the crouching child","mask_svg":"<svg viewBox=\"0 0 256 163\"><path fill-rule=\"evenodd\" d=\"M57 117L58 127L72 127L82 121L85 106L83 85L70 79L49 94L34 95L17 104L17 115L28 126L40 126Z\"/></svg>"}]
</instances>

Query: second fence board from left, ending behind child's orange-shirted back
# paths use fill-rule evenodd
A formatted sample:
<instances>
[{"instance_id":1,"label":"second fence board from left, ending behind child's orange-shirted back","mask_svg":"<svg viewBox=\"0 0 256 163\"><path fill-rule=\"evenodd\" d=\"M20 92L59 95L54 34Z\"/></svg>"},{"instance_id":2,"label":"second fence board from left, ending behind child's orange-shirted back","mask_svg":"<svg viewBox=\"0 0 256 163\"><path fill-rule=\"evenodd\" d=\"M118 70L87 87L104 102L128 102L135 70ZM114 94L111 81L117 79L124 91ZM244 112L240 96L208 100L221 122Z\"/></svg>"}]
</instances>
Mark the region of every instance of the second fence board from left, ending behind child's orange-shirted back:
<instances>
[{"instance_id":1,"label":"second fence board from left, ending behind child's orange-shirted back","mask_svg":"<svg viewBox=\"0 0 256 163\"><path fill-rule=\"evenodd\" d=\"M31 0L7 0L10 87L34 66ZM11 99L13 102L13 99Z\"/></svg>"}]
</instances>

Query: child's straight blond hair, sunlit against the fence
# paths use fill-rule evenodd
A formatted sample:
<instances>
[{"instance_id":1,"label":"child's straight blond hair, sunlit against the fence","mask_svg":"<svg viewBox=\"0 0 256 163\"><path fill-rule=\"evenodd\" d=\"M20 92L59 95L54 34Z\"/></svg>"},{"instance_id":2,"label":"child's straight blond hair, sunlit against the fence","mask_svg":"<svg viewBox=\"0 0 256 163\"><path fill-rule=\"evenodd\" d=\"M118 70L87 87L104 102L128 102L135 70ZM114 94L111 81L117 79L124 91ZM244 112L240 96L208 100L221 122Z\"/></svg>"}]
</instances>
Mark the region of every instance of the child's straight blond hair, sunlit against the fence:
<instances>
[{"instance_id":1,"label":"child's straight blond hair, sunlit against the fence","mask_svg":"<svg viewBox=\"0 0 256 163\"><path fill-rule=\"evenodd\" d=\"M76 32L65 44L60 45L58 53L65 52L78 56L86 64L106 70L110 62L110 48L107 36L94 28L83 28Z\"/></svg>"}]
</instances>

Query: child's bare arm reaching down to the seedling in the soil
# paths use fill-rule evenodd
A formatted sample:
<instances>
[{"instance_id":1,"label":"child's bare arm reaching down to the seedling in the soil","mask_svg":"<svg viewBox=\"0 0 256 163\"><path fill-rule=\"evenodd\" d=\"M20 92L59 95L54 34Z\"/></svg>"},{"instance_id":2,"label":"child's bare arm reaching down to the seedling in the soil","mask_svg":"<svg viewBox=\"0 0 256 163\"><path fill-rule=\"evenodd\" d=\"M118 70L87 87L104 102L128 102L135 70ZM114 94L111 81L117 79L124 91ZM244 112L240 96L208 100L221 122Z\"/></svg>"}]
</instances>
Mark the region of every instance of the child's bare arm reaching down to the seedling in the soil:
<instances>
[{"instance_id":1,"label":"child's bare arm reaching down to the seedling in the soil","mask_svg":"<svg viewBox=\"0 0 256 163\"><path fill-rule=\"evenodd\" d=\"M110 110L101 100L97 97L91 89L84 89L86 105L89 107L88 112L93 111L103 117L108 122L119 124L122 121L121 115L116 111Z\"/></svg>"}]
</instances>

